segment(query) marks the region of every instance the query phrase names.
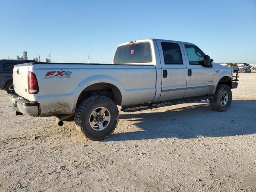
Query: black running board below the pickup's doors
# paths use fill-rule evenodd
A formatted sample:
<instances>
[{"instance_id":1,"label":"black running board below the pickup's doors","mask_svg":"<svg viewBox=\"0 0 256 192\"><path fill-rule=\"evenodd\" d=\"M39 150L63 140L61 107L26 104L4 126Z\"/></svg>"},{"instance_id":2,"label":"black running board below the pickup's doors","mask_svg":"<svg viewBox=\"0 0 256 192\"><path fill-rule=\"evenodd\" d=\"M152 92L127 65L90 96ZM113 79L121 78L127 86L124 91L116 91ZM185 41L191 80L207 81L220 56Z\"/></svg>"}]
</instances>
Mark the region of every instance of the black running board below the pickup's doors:
<instances>
[{"instance_id":1,"label":"black running board below the pickup's doors","mask_svg":"<svg viewBox=\"0 0 256 192\"><path fill-rule=\"evenodd\" d=\"M213 96L203 96L203 97L193 97L193 98L184 98L184 99L178 99L178 100L169 100L165 102L156 102L156 103L146 103L146 104L138 104L138 105L132 105L132 106L122 106L121 111L123 112L136 112L136 111L142 111L147 109L154 109L159 107L166 107L171 105L177 105L182 103L190 103L190 102L196 102L196 101L202 101L202 100L209 100L212 99Z\"/></svg>"}]
</instances>

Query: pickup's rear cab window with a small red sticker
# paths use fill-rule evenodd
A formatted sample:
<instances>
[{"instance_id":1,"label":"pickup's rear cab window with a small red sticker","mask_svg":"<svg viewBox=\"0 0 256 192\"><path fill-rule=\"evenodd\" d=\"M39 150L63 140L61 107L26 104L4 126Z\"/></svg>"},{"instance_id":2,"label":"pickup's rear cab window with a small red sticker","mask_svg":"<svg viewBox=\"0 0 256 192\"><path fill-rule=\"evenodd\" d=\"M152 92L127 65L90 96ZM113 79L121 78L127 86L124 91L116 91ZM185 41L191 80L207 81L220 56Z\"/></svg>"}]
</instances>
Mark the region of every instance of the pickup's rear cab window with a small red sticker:
<instances>
[{"instance_id":1,"label":"pickup's rear cab window with a small red sticker","mask_svg":"<svg viewBox=\"0 0 256 192\"><path fill-rule=\"evenodd\" d=\"M148 62L152 62L149 42L120 46L114 57L114 64Z\"/></svg>"}]
</instances>

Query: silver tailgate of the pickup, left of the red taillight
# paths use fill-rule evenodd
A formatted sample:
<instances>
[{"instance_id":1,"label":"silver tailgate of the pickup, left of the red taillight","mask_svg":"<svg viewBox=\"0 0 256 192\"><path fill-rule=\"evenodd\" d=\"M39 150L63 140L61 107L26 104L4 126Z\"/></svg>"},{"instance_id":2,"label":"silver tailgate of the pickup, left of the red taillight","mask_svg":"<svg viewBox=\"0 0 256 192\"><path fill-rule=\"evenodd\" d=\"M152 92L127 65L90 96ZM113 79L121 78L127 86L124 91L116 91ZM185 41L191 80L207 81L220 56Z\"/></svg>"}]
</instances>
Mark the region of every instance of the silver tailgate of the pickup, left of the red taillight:
<instances>
[{"instance_id":1,"label":"silver tailgate of the pickup, left of the red taillight","mask_svg":"<svg viewBox=\"0 0 256 192\"><path fill-rule=\"evenodd\" d=\"M28 94L28 68L30 63L15 65L12 72L12 79L15 92L29 100Z\"/></svg>"}]
</instances>

